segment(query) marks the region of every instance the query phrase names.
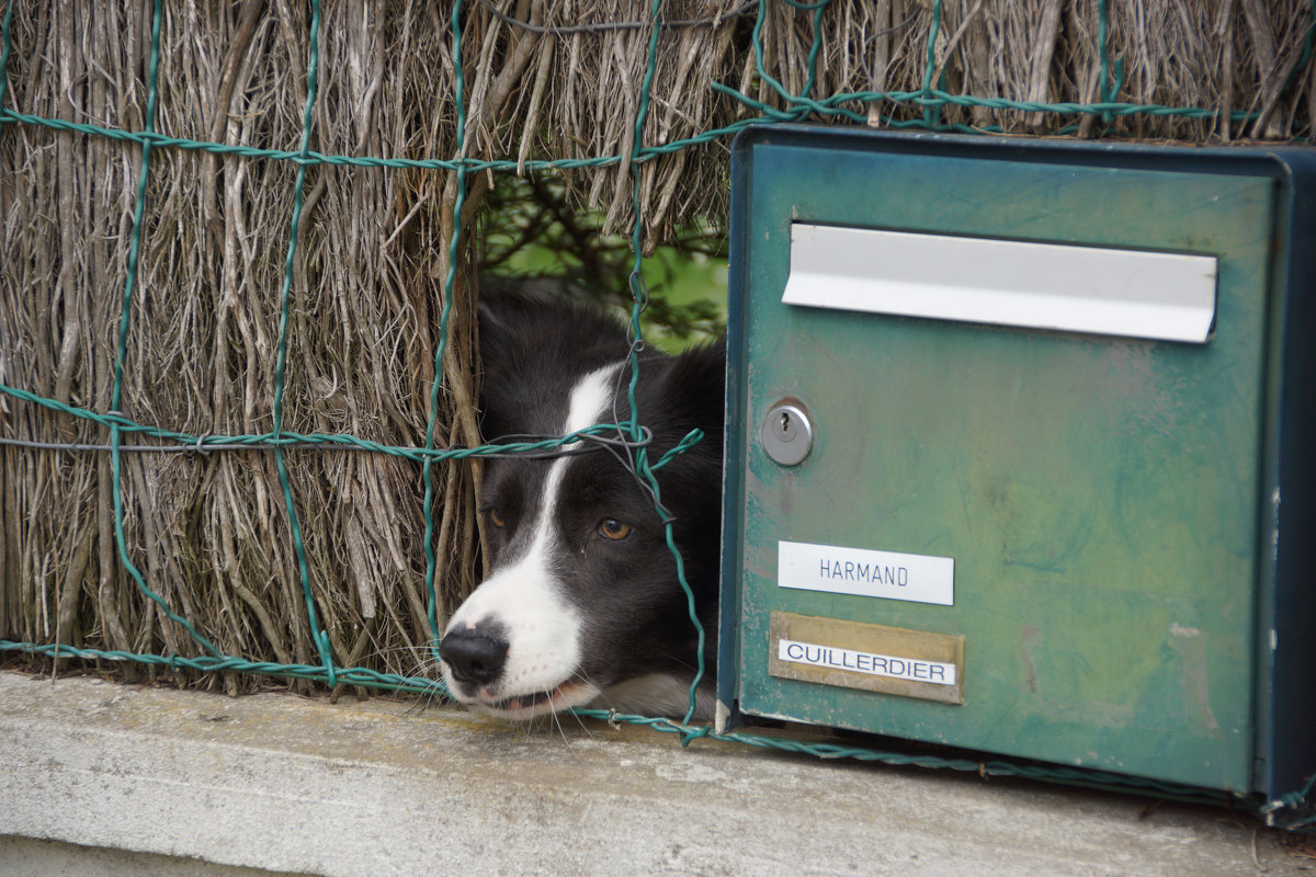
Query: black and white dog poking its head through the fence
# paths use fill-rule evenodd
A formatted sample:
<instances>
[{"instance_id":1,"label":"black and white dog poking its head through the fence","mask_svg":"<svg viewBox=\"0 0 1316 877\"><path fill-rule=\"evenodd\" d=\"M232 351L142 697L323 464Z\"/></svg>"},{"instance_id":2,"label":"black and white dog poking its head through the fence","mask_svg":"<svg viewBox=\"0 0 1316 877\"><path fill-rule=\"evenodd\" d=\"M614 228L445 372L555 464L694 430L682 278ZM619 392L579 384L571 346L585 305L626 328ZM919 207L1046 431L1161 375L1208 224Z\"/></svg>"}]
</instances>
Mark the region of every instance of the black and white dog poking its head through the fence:
<instances>
[{"instance_id":1,"label":"black and white dog poking its head through the fence","mask_svg":"<svg viewBox=\"0 0 1316 877\"><path fill-rule=\"evenodd\" d=\"M629 350L621 323L596 310L486 298L486 440L629 418ZM713 705L725 355L724 343L679 356L645 351L636 388L640 421L653 431L650 462L691 430L704 433L655 473L707 635L700 718ZM491 575L443 632L443 680L462 703L513 719L574 706L683 715L696 632L653 497L622 463L625 450L562 450L487 463L480 514Z\"/></svg>"}]
</instances>

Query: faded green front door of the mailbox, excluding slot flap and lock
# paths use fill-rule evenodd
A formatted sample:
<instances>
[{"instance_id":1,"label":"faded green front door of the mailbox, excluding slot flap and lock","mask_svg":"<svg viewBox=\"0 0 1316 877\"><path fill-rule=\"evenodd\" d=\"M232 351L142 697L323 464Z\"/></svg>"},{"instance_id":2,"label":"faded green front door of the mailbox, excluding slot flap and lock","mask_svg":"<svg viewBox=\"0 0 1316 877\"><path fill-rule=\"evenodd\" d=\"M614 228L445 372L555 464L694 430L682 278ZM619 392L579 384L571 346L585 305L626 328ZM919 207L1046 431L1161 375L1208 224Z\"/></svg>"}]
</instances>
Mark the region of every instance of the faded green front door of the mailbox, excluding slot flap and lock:
<instances>
[{"instance_id":1,"label":"faded green front door of the mailbox, excluding slot flap and lock","mask_svg":"<svg viewBox=\"0 0 1316 877\"><path fill-rule=\"evenodd\" d=\"M740 710L1249 790L1273 180L746 149L726 534ZM1215 256L1213 330L1146 341L787 305L800 224ZM794 465L761 433L782 402L812 429ZM838 557L878 557L886 589L783 586L783 561L838 561L826 547L884 552ZM901 594L901 556L949 560L949 604ZM783 642L830 651L801 667ZM874 655L953 667L959 690L926 667L865 685L848 661Z\"/></svg>"}]
</instances>

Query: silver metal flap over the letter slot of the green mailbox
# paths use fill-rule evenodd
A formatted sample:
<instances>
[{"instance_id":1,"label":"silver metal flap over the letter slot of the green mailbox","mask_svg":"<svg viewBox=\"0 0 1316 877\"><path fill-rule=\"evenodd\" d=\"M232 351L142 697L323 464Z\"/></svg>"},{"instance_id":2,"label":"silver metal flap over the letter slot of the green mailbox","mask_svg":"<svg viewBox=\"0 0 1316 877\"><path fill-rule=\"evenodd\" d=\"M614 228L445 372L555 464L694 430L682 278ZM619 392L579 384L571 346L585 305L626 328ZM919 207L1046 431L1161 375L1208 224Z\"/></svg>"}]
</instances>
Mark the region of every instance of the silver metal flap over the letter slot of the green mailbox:
<instances>
[{"instance_id":1,"label":"silver metal flap over the letter slot of the green mailbox","mask_svg":"<svg viewBox=\"0 0 1316 877\"><path fill-rule=\"evenodd\" d=\"M791 226L788 305L1205 343L1209 255Z\"/></svg>"}]
</instances>

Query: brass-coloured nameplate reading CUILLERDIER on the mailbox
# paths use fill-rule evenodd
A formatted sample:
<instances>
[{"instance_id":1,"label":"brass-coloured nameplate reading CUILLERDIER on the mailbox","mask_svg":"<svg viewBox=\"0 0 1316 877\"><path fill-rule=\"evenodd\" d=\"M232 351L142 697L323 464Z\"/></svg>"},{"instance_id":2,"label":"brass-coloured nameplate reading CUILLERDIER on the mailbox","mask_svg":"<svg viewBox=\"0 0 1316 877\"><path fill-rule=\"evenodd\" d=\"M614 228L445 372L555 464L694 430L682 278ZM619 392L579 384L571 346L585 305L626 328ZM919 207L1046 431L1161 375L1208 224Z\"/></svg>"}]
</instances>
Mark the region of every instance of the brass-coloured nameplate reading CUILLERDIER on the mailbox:
<instances>
[{"instance_id":1,"label":"brass-coloured nameplate reading CUILLERDIER on the mailbox","mask_svg":"<svg viewBox=\"0 0 1316 877\"><path fill-rule=\"evenodd\" d=\"M965 638L774 611L767 672L822 685L965 702Z\"/></svg>"}]
</instances>

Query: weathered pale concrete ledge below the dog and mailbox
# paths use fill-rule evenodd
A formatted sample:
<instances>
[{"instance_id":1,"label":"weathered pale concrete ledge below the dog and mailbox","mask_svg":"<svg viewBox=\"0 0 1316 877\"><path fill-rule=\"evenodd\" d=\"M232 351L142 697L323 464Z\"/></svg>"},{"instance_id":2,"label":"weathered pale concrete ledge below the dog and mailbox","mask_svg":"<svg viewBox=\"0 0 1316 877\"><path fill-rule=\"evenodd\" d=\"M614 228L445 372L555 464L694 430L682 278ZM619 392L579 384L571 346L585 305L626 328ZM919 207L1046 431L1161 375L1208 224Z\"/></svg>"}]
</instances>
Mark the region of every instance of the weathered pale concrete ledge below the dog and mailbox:
<instances>
[{"instance_id":1,"label":"weathered pale concrete ledge below the dog and mailbox","mask_svg":"<svg viewBox=\"0 0 1316 877\"><path fill-rule=\"evenodd\" d=\"M0 673L0 873L114 873L18 868L79 848L207 876L1313 873L1221 810L1142 818L1146 799L604 723L16 673Z\"/></svg>"}]
</instances>

